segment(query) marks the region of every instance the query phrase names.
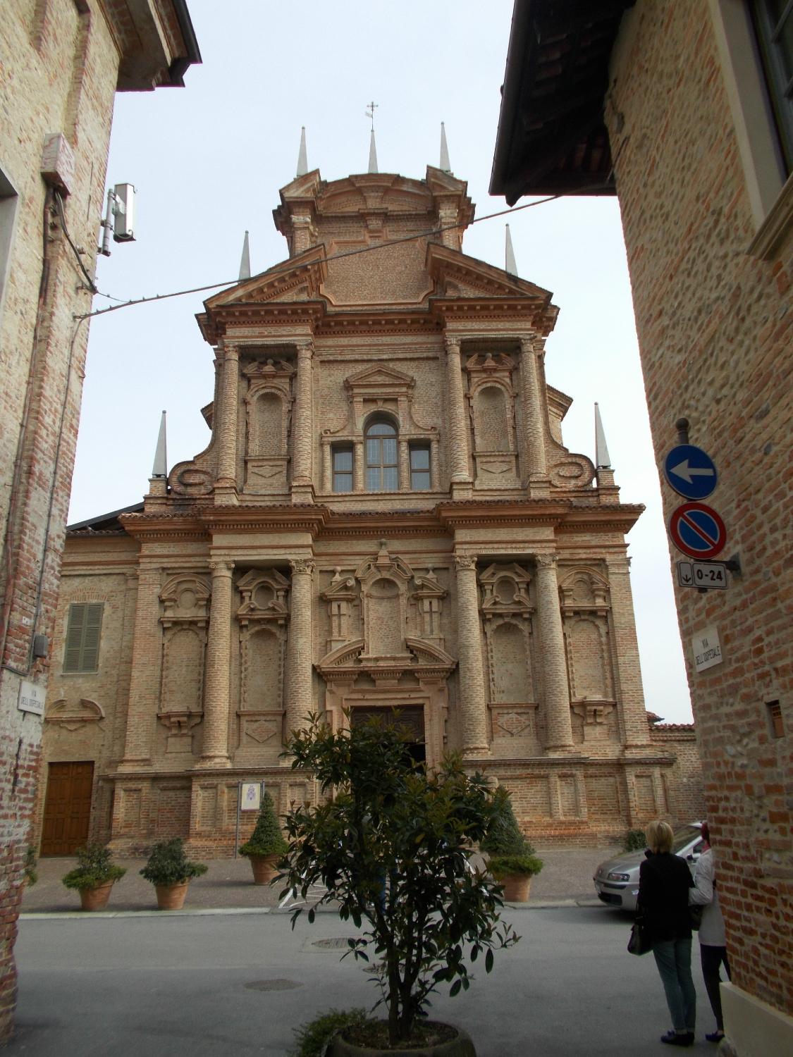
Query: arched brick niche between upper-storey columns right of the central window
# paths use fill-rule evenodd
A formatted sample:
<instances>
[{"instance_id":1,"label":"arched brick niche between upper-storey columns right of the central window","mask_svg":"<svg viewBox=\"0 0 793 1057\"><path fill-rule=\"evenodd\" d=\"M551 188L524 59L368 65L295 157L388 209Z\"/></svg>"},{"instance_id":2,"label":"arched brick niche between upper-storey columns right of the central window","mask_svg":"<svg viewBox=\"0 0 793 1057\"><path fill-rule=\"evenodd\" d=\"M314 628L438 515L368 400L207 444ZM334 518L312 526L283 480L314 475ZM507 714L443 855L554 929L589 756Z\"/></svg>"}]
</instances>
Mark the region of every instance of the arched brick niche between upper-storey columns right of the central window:
<instances>
[{"instance_id":1,"label":"arched brick niche between upper-storey columns right of the central window","mask_svg":"<svg viewBox=\"0 0 793 1057\"><path fill-rule=\"evenodd\" d=\"M476 353L465 363L476 467L475 488L516 488L515 361L503 352Z\"/></svg>"}]
</instances>

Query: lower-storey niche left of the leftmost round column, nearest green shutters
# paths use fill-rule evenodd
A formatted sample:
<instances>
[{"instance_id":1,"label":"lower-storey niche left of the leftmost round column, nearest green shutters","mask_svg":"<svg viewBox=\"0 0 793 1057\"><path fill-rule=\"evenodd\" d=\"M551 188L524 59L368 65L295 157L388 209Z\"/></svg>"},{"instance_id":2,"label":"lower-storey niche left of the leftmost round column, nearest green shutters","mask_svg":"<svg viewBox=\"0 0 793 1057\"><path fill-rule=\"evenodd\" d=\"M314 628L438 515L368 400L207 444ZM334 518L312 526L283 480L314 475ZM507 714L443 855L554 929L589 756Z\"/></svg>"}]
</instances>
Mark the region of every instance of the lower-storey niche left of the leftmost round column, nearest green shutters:
<instances>
[{"instance_id":1,"label":"lower-storey niche left of the leftmost round column, nearest green shutters","mask_svg":"<svg viewBox=\"0 0 793 1057\"><path fill-rule=\"evenodd\" d=\"M168 754L192 752L192 728L203 716L209 596L208 580L195 573L171 576L160 593L163 664L158 718L168 731Z\"/></svg>"}]
</instances>

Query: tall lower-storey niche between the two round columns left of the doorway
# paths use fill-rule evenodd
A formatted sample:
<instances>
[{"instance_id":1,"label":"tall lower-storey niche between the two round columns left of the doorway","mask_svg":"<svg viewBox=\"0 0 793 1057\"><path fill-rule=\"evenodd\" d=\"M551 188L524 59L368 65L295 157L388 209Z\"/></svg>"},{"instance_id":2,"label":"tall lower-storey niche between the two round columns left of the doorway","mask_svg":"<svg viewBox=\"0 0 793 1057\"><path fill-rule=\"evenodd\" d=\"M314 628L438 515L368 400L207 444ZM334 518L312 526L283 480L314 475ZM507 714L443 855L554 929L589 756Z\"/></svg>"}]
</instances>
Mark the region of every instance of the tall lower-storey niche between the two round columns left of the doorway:
<instances>
[{"instance_id":1,"label":"tall lower-storey niche between the two round columns left of the doorway","mask_svg":"<svg viewBox=\"0 0 793 1057\"><path fill-rule=\"evenodd\" d=\"M290 581L277 569L252 569L237 582L240 641L239 746L280 750Z\"/></svg>"}]
</instances>

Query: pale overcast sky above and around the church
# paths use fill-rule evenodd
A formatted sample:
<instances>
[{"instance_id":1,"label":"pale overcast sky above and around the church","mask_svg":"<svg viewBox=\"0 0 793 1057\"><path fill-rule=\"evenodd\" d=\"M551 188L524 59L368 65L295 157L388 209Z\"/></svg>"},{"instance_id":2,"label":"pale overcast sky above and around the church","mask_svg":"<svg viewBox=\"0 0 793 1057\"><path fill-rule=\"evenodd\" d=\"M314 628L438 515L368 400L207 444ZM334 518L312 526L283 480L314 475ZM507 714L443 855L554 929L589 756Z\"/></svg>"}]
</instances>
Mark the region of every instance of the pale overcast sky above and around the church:
<instances>
[{"instance_id":1,"label":"pale overcast sky above and around the church","mask_svg":"<svg viewBox=\"0 0 793 1057\"><path fill-rule=\"evenodd\" d=\"M189 0L203 64L183 89L116 96L108 182L137 189L136 241L111 243L99 290L126 300L232 281L245 229L254 274L283 260L272 210L295 175L300 126L309 168L326 180L365 172L372 99L381 172L422 179L439 163L443 120L477 217L505 208L487 187L512 6ZM647 707L690 722L616 199L567 198L483 221L463 252L503 267L505 221L518 273L560 309L546 370L574 401L565 443L594 459L597 401L621 498L647 507L628 536ZM161 410L169 467L206 446L199 409L213 397L213 350L195 314L209 293L92 320L70 521L140 501Z\"/></svg>"}]
</instances>

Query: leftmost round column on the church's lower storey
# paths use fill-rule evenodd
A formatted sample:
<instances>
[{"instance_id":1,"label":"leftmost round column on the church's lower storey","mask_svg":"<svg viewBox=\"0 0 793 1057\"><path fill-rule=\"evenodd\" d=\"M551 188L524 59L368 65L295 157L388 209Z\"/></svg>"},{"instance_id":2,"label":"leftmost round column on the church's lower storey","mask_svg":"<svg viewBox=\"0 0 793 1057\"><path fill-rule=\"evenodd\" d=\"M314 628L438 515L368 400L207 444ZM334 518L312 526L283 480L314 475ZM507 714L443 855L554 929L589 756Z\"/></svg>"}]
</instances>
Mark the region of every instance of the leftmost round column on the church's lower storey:
<instances>
[{"instance_id":1,"label":"leftmost round column on the church's lower storey","mask_svg":"<svg viewBox=\"0 0 793 1057\"><path fill-rule=\"evenodd\" d=\"M204 741L198 766L227 767L234 562L213 561L209 568L213 576L213 595L206 644Z\"/></svg>"}]
</instances>

